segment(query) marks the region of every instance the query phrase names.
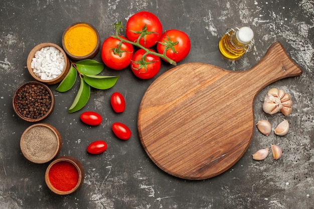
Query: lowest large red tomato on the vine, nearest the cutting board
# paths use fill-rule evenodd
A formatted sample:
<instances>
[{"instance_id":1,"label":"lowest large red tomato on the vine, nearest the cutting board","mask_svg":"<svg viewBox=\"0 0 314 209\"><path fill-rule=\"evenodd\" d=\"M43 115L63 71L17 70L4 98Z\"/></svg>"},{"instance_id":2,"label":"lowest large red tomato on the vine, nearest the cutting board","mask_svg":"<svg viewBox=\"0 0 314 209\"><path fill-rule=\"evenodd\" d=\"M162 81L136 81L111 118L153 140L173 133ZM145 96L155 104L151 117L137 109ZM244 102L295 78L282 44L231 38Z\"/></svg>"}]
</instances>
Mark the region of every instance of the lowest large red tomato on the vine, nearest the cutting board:
<instances>
[{"instance_id":1,"label":"lowest large red tomato on the vine, nearest the cutting board","mask_svg":"<svg viewBox=\"0 0 314 209\"><path fill-rule=\"evenodd\" d=\"M149 49L150 51L153 51ZM147 54L146 64L142 63L142 56L145 54L145 50L137 50L131 62L131 69L135 76L141 79L150 79L154 77L161 69L161 59L158 56Z\"/></svg>"}]
</instances>

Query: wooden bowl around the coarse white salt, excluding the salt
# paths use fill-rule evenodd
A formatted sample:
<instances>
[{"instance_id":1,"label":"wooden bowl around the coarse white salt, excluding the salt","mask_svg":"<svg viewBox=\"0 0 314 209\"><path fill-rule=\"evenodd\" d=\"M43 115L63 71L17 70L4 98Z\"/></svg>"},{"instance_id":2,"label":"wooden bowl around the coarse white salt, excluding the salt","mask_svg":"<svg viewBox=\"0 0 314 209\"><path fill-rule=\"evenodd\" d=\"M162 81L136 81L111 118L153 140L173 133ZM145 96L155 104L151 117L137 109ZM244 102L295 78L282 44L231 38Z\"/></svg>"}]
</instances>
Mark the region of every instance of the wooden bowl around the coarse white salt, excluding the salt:
<instances>
[{"instance_id":1,"label":"wooden bowl around the coarse white salt, excluding the salt","mask_svg":"<svg viewBox=\"0 0 314 209\"><path fill-rule=\"evenodd\" d=\"M44 80L44 79L41 79L40 77L38 77L37 75L35 75L34 73L34 70L32 68L32 60L33 58L35 57L35 53L37 51L40 51L41 49L43 49L44 47L55 47L57 48L60 52L62 52L63 54L63 57L64 57L64 68L63 68L63 71L62 73L54 78L54 79L50 79L50 80ZM40 81L42 83L45 83L45 84L48 84L48 85L52 85L52 84L56 84L56 83L59 83L60 81L62 81L64 79L64 77L67 75L67 73L69 72L69 69L70 69L70 61L69 61L69 58L67 57L66 53L64 52L64 50L59 47L58 45L56 44L53 44L53 43L41 43L37 46L35 46L31 52L29 53L28 57L27 57L27 69L29 71L29 73L31 74L31 76L37 80L37 81Z\"/></svg>"}]
</instances>

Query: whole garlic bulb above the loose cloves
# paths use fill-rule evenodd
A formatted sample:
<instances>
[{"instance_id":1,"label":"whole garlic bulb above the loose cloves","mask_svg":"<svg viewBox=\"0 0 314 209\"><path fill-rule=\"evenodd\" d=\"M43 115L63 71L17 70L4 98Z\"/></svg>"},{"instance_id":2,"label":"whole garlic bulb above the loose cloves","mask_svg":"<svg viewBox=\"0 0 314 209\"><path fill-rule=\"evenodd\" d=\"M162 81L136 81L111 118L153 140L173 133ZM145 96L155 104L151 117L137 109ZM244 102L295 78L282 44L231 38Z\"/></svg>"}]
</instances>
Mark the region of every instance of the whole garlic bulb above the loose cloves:
<instances>
[{"instance_id":1,"label":"whole garlic bulb above the loose cloves","mask_svg":"<svg viewBox=\"0 0 314 209\"><path fill-rule=\"evenodd\" d=\"M289 115L292 111L290 95L282 89L269 89L264 98L263 110L268 114L275 114L280 111L285 116Z\"/></svg>"}]
</instances>

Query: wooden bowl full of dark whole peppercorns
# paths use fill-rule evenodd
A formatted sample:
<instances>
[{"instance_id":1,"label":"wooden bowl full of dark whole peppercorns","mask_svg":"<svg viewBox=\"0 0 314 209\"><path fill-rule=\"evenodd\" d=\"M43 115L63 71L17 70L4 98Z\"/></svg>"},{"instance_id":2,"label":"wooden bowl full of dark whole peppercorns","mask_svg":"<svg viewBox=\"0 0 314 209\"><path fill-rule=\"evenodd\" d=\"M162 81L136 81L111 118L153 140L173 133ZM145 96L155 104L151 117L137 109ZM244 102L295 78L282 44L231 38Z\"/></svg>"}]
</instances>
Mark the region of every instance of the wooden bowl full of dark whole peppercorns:
<instances>
[{"instance_id":1,"label":"wooden bowl full of dark whole peppercorns","mask_svg":"<svg viewBox=\"0 0 314 209\"><path fill-rule=\"evenodd\" d=\"M15 113L28 122L47 118L55 107L55 98L48 86L37 81L22 84L13 95Z\"/></svg>"}]
</instances>

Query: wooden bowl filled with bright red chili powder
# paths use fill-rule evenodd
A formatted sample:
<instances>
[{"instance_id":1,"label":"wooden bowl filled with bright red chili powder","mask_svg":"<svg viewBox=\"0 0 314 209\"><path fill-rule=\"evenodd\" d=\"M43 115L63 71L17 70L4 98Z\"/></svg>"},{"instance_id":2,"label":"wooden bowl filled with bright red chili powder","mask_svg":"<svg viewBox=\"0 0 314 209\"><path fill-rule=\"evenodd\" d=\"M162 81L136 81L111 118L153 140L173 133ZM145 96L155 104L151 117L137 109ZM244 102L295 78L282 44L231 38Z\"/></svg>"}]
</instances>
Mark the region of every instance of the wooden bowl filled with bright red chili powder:
<instances>
[{"instance_id":1,"label":"wooden bowl filled with bright red chili powder","mask_svg":"<svg viewBox=\"0 0 314 209\"><path fill-rule=\"evenodd\" d=\"M65 195L76 191L82 185L84 175L80 161L71 156L63 156L52 161L47 167L45 181L51 191ZM56 181L59 182L58 185Z\"/></svg>"}]
</instances>

